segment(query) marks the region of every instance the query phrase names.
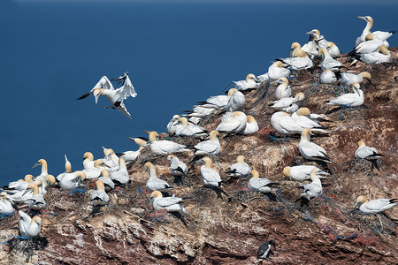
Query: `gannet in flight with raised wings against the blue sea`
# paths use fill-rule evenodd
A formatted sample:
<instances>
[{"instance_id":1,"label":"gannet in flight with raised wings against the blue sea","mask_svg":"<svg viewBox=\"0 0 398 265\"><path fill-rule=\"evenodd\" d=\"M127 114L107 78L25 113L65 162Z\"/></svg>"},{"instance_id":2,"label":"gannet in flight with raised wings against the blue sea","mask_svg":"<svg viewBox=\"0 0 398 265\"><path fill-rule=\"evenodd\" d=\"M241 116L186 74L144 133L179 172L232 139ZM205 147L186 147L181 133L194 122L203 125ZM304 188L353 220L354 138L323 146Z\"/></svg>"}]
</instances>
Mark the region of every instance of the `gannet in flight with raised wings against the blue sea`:
<instances>
[{"instance_id":1,"label":"gannet in flight with raised wings against the blue sea","mask_svg":"<svg viewBox=\"0 0 398 265\"><path fill-rule=\"evenodd\" d=\"M137 93L135 92L135 89L133 87L133 84L131 83L131 80L128 78L128 72L125 72L124 76L119 77L118 79L114 80L123 80L123 85L119 87L118 89L115 89L111 85L111 81L106 77L103 76L98 83L96 83L96 86L93 87L88 93L85 95L80 96L78 100L84 99L88 97L91 93L96 98L96 103L98 102L98 97L100 95L103 95L106 97L110 102L111 106L109 106L111 109L118 109L120 112L122 112L126 117L131 118L130 113L128 113L125 104L123 101L129 97L135 97Z\"/></svg>"}]
</instances>

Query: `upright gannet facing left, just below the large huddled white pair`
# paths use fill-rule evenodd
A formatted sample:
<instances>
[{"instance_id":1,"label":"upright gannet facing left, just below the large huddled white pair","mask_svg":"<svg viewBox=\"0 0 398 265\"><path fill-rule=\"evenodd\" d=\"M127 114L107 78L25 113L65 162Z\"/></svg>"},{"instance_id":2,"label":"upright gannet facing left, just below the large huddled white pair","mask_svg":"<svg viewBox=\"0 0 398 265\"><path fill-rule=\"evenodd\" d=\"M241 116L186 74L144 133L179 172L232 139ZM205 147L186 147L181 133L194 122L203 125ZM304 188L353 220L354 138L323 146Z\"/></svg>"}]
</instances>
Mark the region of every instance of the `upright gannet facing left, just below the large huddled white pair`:
<instances>
[{"instance_id":1,"label":"upright gannet facing left, just below the large huddled white pair","mask_svg":"<svg viewBox=\"0 0 398 265\"><path fill-rule=\"evenodd\" d=\"M330 159L329 155L326 154L324 148L321 148L317 144L310 142L310 134L310 128L304 128L302 130L302 137L298 145L302 157L308 160L332 163L332 160Z\"/></svg>"}]
</instances>

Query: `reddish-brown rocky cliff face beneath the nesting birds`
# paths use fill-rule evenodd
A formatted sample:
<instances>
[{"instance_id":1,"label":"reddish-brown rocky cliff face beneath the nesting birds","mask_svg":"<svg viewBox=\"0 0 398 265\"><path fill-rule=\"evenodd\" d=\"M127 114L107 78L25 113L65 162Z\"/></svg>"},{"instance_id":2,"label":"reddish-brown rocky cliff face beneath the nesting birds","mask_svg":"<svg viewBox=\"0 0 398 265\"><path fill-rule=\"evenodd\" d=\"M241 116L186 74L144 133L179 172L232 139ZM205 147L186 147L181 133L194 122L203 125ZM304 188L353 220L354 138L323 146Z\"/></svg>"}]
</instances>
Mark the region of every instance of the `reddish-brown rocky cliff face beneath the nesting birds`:
<instances>
[{"instance_id":1,"label":"reddish-brown rocky cliff face beneath the nesting birds","mask_svg":"<svg viewBox=\"0 0 398 265\"><path fill-rule=\"evenodd\" d=\"M396 49L393 49L394 51ZM393 53L394 57L396 53ZM345 63L345 57L341 58ZM345 64L348 66L348 63ZM85 193L66 195L52 189L46 196L48 211L42 213L43 239L27 242L12 239L0 245L1 262L22 264L258 264L256 251L267 239L276 241L272 261L279 264L396 264L398 240L396 224L386 216L366 216L353 211L358 195L371 199L397 198L397 60L390 64L358 63L349 72L368 71L372 86L363 84L365 103L357 108L331 110L321 103L343 92L342 87L318 84L320 69L295 72L290 80L293 94L304 92L304 106L314 113L329 113L334 121L329 136L312 140L331 156L333 175L323 183L324 194L301 207L297 183L283 177L282 169L305 163L297 148L298 138L274 140L266 102L273 98L275 85L268 87L264 100L245 110L256 117L260 131L249 136L227 136L220 140L222 154L214 168L226 178L237 155L245 155L249 165L281 185L276 201L247 190L249 179L224 185L228 196L203 187L199 166L182 178L174 190L189 214L188 227L175 216L149 208L149 193L143 193L148 179L143 164L151 161L157 176L173 183L169 163L149 148L129 168L131 184L111 194L110 205L101 215L89 216L91 208ZM265 84L264 84L265 87ZM262 91L247 95L247 107ZM203 99L198 99L203 100ZM203 122L214 129L221 114ZM165 135L166 136L166 135ZM380 170L371 163L355 159L356 143L364 140L386 155L379 160ZM178 138L181 143L195 140ZM190 161L192 154L178 155ZM314 164L315 163L306 163ZM328 186L327 186L328 185ZM93 187L93 183L88 183ZM387 214L398 218L398 207ZM0 241L17 234L16 216L0 221Z\"/></svg>"}]
</instances>

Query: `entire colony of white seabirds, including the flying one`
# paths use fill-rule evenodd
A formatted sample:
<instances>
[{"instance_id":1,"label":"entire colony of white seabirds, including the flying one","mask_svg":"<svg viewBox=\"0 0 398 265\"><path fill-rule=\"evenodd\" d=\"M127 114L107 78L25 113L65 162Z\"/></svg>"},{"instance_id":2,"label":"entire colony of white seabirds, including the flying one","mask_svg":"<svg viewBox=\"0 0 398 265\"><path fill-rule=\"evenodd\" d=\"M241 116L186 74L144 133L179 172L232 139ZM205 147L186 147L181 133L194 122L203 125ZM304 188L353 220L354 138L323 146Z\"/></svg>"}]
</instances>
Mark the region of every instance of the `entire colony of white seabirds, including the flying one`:
<instances>
[{"instance_id":1,"label":"entire colony of white seabirds, including the flying one","mask_svg":"<svg viewBox=\"0 0 398 265\"><path fill-rule=\"evenodd\" d=\"M365 64L389 62L391 54L387 39L394 32L371 32L373 19L369 16L358 18L364 19L366 27L356 39L356 48L346 55L350 66L358 61ZM297 183L296 186L301 192L297 193L295 203L302 208L310 208L311 201L322 196L323 179L333 178L333 170L329 168L329 165L333 164L333 157L328 155L327 149L316 143L316 139L318 136L329 137L335 129L331 129L333 126L330 124L333 124L333 120L325 113L312 113L304 106L310 95L289 86L289 80L295 78L295 72L320 68L322 73L317 80L318 83L340 84L347 91L325 102L318 102L334 110L333 108L346 109L363 105L362 86L365 79L371 84L371 74L353 72L349 67L343 66L339 60L342 58L340 49L334 42L326 41L318 29L306 34L310 35L309 42L304 45L294 42L289 57L276 59L269 66L268 72L258 76L250 73L246 79L233 82L233 88L229 89L226 95L211 96L203 102L198 102L193 110L174 115L165 125L167 134L159 135L154 131L145 131L149 135L148 138L130 138L139 145L135 151L117 154L111 148L103 148L103 157L96 159L92 153L86 152L82 154L83 163L80 170L72 170L72 165L65 155L65 171L59 173L61 170L58 169L57 174L56 170L49 171L45 159L38 160L34 167L41 166L40 175L33 177L27 174L24 179L3 187L0 193L0 212L10 216L18 213L20 236L34 239L41 232L42 211L49 206L45 201L46 193L52 188L60 189L65 192L65 196L70 196L83 188L83 191L87 190L92 206L92 212L88 213L88 216L100 215L103 208L110 207L110 197L117 196L117 191L125 189L134 180L134 172L129 173L127 170L133 163L141 164L139 168L147 172L147 182L142 186L142 190L148 194L148 210L169 212L176 217L176 222L183 226L190 225L189 211L186 207L192 204L192 201L186 200L189 198L188 194L179 191L183 179L200 178L204 188L209 189L211 193L217 193L218 198L215 200L230 198L225 187L241 179L247 180L247 191L278 200L283 196L283 193L279 193L283 184L266 178L265 172L255 169L250 164L249 156L238 155L236 161L230 162L229 168L221 169L218 165L218 159L224 155L223 141L232 138L244 140L263 129L264 125L256 122L256 115L249 115L246 97L250 93L252 95L253 90L256 94L270 87L275 88L274 95L262 102L265 108L273 111L267 121L273 128L269 140L274 140L279 146L283 146L287 140L295 142L304 161L295 166L286 166L280 172L280 176ZM92 94L97 102L99 96L103 95L111 102L109 108L117 109L131 118L124 100L129 96L135 97L137 93L128 73L111 80L121 83L121 87L115 89L110 79L103 76L95 87L79 99ZM296 136L300 139L297 140ZM183 144L181 140L188 140L188 143ZM142 155L143 152L145 155ZM358 148L352 150L352 155L356 159L371 161L375 167L378 167L377 160L383 156L379 154L377 147L368 147L364 140L358 142ZM175 179L172 183L157 175L157 161L162 158L170 163L169 171ZM94 185L90 186L90 183ZM197 186L191 188L195 189ZM379 214L398 205L397 199L371 199L357 194L357 200L353 201L353 205L355 203L355 207L364 214ZM190 205L189 208L195 206ZM266 259L273 254L272 246L275 247L275 242L278 243L278 239L270 239L261 245L257 258Z\"/></svg>"}]
</instances>

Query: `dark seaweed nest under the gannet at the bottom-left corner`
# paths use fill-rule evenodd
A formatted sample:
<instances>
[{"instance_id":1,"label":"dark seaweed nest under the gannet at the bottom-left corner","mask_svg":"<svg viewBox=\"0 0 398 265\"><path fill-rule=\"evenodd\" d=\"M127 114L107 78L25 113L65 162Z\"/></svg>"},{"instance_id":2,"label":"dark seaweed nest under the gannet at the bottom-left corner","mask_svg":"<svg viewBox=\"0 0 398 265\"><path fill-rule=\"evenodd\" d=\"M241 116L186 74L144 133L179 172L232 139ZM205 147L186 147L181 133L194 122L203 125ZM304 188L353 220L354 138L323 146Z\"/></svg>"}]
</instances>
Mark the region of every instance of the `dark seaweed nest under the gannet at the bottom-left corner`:
<instances>
[{"instance_id":1,"label":"dark seaweed nest under the gannet at the bottom-left corner","mask_svg":"<svg viewBox=\"0 0 398 265\"><path fill-rule=\"evenodd\" d=\"M14 238L7 241L10 252L21 253L27 256L26 261L30 261L35 251L43 250L49 244L49 240L45 237L37 237L34 239Z\"/></svg>"}]
</instances>

